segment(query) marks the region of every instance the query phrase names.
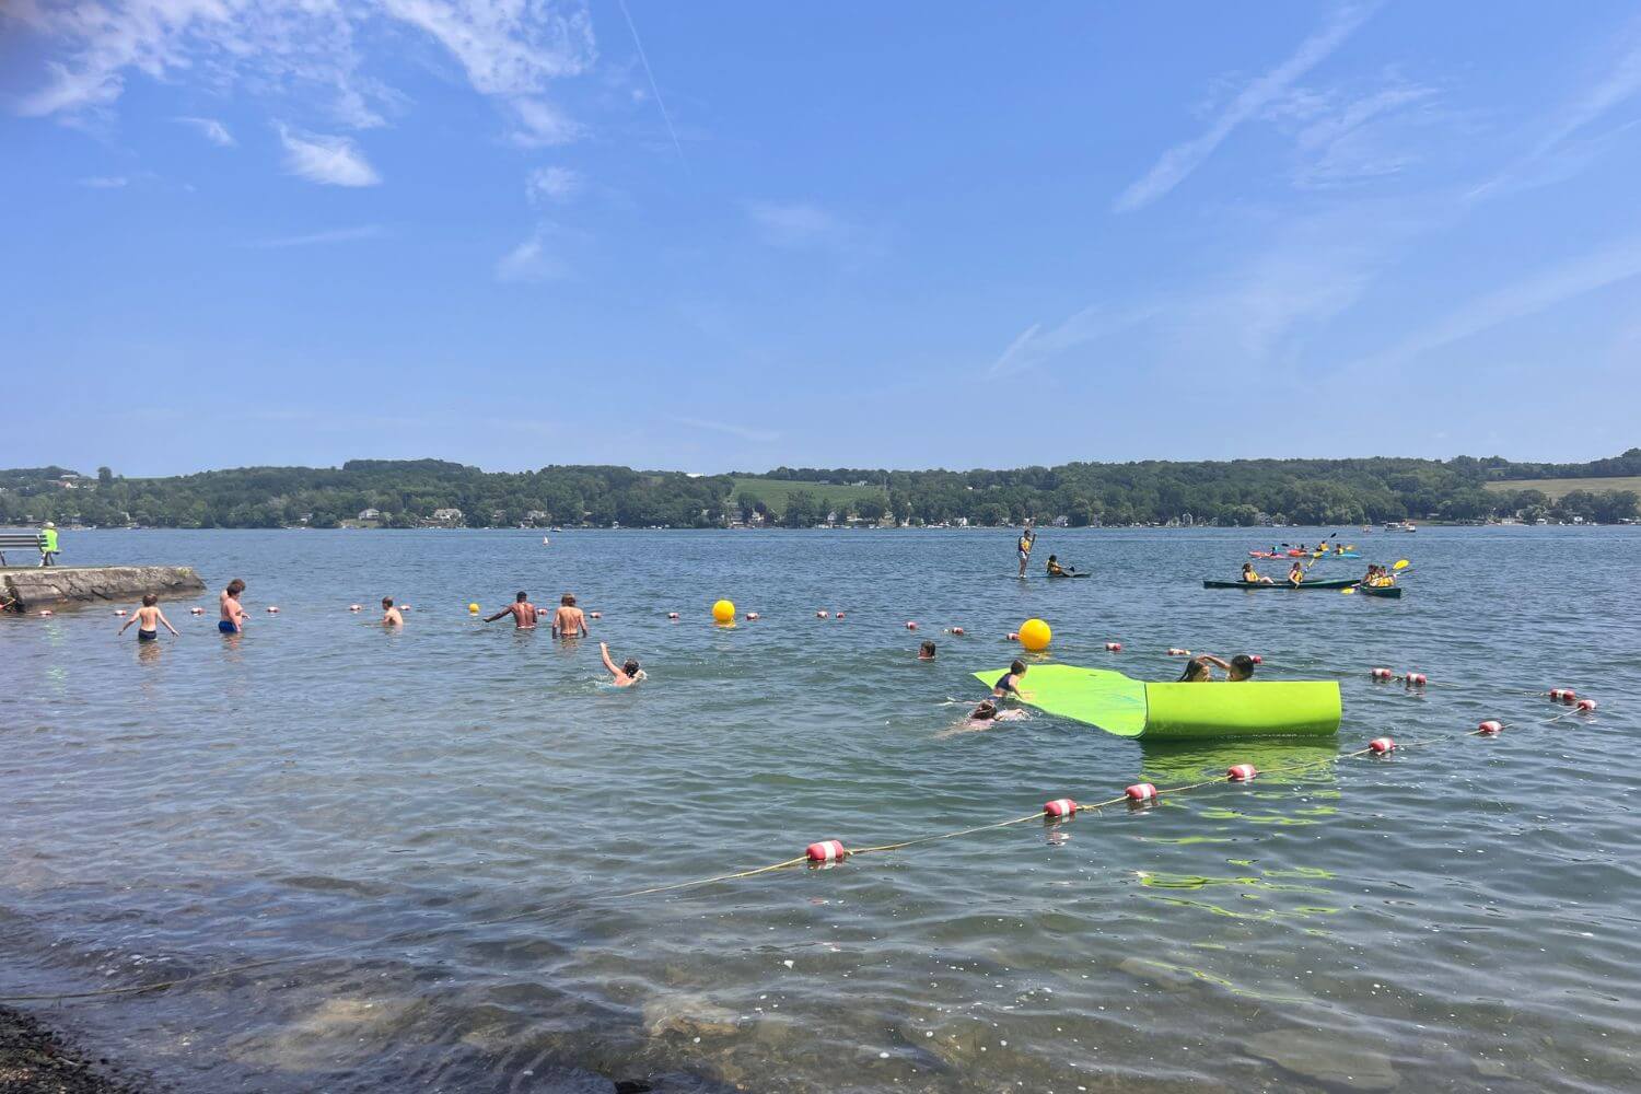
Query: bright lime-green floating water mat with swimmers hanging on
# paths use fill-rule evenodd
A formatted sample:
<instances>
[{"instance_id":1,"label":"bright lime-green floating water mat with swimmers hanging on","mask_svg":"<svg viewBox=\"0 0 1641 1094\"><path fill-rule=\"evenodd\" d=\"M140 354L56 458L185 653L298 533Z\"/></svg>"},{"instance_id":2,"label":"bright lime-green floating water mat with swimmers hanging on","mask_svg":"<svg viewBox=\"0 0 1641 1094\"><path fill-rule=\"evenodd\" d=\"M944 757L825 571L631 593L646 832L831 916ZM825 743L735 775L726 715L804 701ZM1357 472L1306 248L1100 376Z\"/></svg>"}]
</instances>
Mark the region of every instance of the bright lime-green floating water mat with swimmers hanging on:
<instances>
[{"instance_id":1,"label":"bright lime-green floating water mat with swimmers hanging on","mask_svg":"<svg viewBox=\"0 0 1641 1094\"><path fill-rule=\"evenodd\" d=\"M1006 669L975 672L994 686ZM1039 664L1019 681L1027 705L1118 736L1314 736L1339 732L1336 681L1149 684L1111 669Z\"/></svg>"}]
</instances>

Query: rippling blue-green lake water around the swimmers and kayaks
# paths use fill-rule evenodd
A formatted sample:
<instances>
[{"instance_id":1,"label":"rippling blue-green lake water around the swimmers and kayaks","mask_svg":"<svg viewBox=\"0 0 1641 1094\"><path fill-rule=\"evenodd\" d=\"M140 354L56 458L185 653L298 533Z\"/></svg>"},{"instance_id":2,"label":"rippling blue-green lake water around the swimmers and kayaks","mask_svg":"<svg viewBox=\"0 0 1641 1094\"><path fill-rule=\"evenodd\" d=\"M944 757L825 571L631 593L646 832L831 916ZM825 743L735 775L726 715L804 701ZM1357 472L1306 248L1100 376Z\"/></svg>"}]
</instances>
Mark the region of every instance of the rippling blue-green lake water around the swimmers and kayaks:
<instances>
[{"instance_id":1,"label":"rippling blue-green lake water around the swimmers and kayaks","mask_svg":"<svg viewBox=\"0 0 1641 1094\"><path fill-rule=\"evenodd\" d=\"M1641 1087L1641 533L1347 536L1413 559L1400 602L1201 587L1262 535L1049 530L1021 582L1006 530L66 533L66 564L210 590L158 648L110 607L0 620L0 994L317 955L26 1004L184 1091ZM1050 551L1095 579L1044 581ZM576 592L592 641L469 618L517 589ZM763 618L712 627L720 595ZM1341 681L1339 751L1431 745L1283 774L1336 746L962 732L1032 615L1055 661L1260 653ZM601 638L650 679L601 686ZM624 896L1244 761L1144 812Z\"/></svg>"}]
</instances>

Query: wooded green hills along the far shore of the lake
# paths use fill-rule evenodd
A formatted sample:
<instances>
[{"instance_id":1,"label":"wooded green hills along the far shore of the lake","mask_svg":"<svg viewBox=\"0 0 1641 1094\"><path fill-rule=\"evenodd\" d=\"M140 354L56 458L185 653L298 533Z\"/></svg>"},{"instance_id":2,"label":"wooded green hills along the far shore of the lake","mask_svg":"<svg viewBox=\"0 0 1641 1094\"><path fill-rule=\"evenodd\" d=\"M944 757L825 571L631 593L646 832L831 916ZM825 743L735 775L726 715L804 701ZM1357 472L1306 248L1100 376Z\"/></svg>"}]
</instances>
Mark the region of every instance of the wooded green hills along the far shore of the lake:
<instances>
[{"instance_id":1,"label":"wooded green hills along the far shore of the lake","mask_svg":"<svg viewBox=\"0 0 1641 1094\"><path fill-rule=\"evenodd\" d=\"M240 467L164 479L128 479L100 467L0 471L0 522L169 528L335 528L374 510L382 526L610 525L707 528L755 518L807 528L829 515L1001 525L1034 517L1095 523L1218 523L1267 520L1360 525L1405 518L1582 517L1611 523L1638 515L1633 490L1574 490L1559 500L1533 489L1487 490L1502 479L1597 479L1641 474L1641 448L1588 464L1475 459L1237 459L1227 463L1073 463L1014 471L886 471L778 467L765 479L871 484L847 502L798 487L773 507L735 494L735 476L630 467L548 466L486 472L438 459L354 459L341 467ZM438 513L445 510L443 517ZM450 510L459 510L451 517Z\"/></svg>"}]
</instances>

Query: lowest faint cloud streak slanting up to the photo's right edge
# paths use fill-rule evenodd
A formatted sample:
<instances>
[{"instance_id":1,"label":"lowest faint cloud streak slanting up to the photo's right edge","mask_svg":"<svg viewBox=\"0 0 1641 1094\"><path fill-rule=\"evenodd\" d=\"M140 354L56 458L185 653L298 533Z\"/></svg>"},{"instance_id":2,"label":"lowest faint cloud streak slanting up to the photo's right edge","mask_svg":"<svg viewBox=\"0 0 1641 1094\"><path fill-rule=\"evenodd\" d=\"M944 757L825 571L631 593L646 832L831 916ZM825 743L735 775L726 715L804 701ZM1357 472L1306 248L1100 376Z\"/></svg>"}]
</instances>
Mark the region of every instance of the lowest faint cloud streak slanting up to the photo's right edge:
<instances>
[{"instance_id":1,"label":"lowest faint cloud streak slanting up to the photo's right edge","mask_svg":"<svg viewBox=\"0 0 1641 1094\"><path fill-rule=\"evenodd\" d=\"M1475 297L1446 318L1365 361L1369 367L1403 364L1503 323L1536 315L1567 300L1641 276L1641 236L1584 254Z\"/></svg>"}]
</instances>

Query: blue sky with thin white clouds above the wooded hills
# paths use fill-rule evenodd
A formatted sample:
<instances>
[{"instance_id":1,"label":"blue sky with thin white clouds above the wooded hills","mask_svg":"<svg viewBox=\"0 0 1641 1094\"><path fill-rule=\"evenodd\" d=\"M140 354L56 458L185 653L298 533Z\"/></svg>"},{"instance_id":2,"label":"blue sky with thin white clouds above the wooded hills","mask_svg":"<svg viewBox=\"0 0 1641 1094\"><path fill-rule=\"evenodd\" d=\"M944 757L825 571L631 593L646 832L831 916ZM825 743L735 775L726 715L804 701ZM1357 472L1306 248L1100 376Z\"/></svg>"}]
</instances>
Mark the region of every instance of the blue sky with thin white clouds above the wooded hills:
<instances>
[{"instance_id":1,"label":"blue sky with thin white clouds above the wooded hills","mask_svg":"<svg viewBox=\"0 0 1641 1094\"><path fill-rule=\"evenodd\" d=\"M1641 443L1634 5L625 2L0 8L0 466Z\"/></svg>"}]
</instances>

